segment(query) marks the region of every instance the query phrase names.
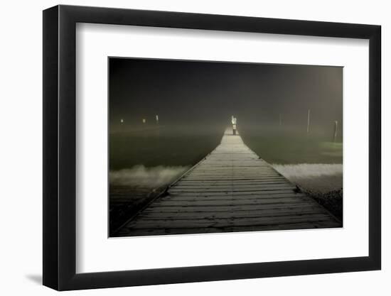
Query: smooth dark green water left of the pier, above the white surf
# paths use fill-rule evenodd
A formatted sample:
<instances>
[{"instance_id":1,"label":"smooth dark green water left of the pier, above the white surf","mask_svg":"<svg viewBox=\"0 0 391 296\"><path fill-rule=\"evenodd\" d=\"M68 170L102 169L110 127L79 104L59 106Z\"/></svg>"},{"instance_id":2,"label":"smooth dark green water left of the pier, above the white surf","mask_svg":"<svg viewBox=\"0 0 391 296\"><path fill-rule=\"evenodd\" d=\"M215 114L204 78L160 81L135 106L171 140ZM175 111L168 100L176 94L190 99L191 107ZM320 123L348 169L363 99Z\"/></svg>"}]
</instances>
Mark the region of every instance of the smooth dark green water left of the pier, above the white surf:
<instances>
[{"instance_id":1,"label":"smooth dark green water left of the pier, above the white surf","mask_svg":"<svg viewBox=\"0 0 391 296\"><path fill-rule=\"evenodd\" d=\"M146 125L110 133L109 168L194 165L218 146L224 129Z\"/></svg>"}]
</instances>

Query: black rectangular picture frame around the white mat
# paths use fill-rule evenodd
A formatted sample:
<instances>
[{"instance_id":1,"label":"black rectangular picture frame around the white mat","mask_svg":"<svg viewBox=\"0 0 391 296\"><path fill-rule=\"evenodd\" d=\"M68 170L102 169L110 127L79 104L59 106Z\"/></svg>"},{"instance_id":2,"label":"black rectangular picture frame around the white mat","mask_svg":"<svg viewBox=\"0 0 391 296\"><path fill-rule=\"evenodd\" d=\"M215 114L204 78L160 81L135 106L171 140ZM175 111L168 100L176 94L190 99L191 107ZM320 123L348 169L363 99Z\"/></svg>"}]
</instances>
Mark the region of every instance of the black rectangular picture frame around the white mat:
<instances>
[{"instance_id":1,"label":"black rectangular picture frame around the white mat","mask_svg":"<svg viewBox=\"0 0 391 296\"><path fill-rule=\"evenodd\" d=\"M80 273L76 270L76 23L369 40L369 256ZM43 11L43 285L79 290L381 268L381 27L166 11L55 6Z\"/></svg>"}]
</instances>

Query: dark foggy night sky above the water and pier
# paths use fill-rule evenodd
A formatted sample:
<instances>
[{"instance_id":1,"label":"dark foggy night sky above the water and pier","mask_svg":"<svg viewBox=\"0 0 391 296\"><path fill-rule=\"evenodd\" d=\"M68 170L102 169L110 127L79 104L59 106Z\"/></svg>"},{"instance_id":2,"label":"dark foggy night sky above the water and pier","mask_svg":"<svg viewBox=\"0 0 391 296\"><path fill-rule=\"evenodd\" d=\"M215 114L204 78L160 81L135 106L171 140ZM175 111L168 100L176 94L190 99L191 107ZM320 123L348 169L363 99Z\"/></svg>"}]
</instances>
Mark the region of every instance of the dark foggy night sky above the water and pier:
<instances>
[{"instance_id":1,"label":"dark foggy night sky above the water and pier","mask_svg":"<svg viewBox=\"0 0 391 296\"><path fill-rule=\"evenodd\" d=\"M110 124L342 124L342 67L109 59Z\"/></svg>"}]
</instances>

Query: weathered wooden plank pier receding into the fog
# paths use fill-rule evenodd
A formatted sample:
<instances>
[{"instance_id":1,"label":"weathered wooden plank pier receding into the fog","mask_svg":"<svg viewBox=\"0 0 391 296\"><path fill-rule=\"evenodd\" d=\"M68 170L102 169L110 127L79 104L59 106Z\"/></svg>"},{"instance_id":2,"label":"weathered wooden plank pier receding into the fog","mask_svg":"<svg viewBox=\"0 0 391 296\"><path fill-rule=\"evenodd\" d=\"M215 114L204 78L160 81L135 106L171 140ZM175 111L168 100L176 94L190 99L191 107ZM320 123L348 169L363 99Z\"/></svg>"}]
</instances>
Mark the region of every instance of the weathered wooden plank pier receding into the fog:
<instances>
[{"instance_id":1,"label":"weathered wooden plank pier receding into the fog","mask_svg":"<svg viewBox=\"0 0 391 296\"><path fill-rule=\"evenodd\" d=\"M227 128L220 145L117 236L340 227Z\"/></svg>"}]
</instances>

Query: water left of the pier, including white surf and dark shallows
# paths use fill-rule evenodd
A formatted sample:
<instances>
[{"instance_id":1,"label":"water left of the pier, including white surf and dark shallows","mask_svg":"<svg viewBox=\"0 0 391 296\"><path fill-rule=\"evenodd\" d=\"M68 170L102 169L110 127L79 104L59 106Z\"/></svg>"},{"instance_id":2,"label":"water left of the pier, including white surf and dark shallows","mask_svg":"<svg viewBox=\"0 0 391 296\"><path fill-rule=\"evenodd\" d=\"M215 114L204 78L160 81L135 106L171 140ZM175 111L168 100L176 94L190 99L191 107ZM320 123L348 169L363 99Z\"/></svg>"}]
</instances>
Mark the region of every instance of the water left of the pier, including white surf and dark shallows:
<instances>
[{"instance_id":1,"label":"water left of the pier, including white surf and dark shallows","mask_svg":"<svg viewBox=\"0 0 391 296\"><path fill-rule=\"evenodd\" d=\"M110 236L220 143L223 128L148 125L109 136Z\"/></svg>"}]
</instances>

